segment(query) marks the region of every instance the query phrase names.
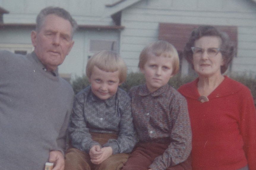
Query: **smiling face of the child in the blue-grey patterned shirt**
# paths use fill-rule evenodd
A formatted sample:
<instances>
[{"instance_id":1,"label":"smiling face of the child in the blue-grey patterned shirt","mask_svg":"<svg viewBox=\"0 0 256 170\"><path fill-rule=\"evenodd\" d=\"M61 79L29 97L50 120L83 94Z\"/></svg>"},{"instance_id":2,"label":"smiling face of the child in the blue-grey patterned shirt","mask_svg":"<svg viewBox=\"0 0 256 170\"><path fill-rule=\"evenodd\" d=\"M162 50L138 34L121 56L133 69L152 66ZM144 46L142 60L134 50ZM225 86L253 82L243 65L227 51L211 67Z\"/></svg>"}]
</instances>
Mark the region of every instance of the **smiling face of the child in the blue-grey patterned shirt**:
<instances>
[{"instance_id":1,"label":"smiling face of the child in the blue-grey patterned shirt","mask_svg":"<svg viewBox=\"0 0 256 170\"><path fill-rule=\"evenodd\" d=\"M91 77L91 90L94 95L106 100L116 94L119 83L119 71L105 72L94 66Z\"/></svg>"}]
</instances>

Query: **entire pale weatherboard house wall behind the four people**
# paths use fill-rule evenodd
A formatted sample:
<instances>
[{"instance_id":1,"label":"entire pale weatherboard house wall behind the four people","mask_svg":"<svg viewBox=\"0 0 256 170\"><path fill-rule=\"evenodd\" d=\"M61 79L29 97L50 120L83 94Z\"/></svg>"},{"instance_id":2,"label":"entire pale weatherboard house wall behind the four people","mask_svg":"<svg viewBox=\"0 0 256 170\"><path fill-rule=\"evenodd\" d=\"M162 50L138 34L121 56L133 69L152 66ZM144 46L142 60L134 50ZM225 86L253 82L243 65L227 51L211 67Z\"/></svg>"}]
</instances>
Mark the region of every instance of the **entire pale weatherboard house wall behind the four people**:
<instances>
[{"instance_id":1,"label":"entire pale weatherboard house wall behind the four people","mask_svg":"<svg viewBox=\"0 0 256 170\"><path fill-rule=\"evenodd\" d=\"M79 25L113 26L111 16L115 7L106 7L118 0L0 0L0 7L9 11L4 23L34 24L38 12L47 6L67 9ZM138 71L140 51L158 40L159 22L197 25L229 25L238 27L238 57L233 61L233 72L256 72L256 3L252 0L127 0L118 4L122 10L123 30L82 29L74 35L74 47L60 73L72 77L85 73L89 41L111 39L120 42L120 53L129 72ZM126 3L127 3L126 1ZM132 2L132 3L131 3ZM134 4L133 4L134 3ZM122 8L120 8L122 9ZM0 29L1 43L31 44L30 29ZM184 68L183 68L184 69Z\"/></svg>"}]
</instances>

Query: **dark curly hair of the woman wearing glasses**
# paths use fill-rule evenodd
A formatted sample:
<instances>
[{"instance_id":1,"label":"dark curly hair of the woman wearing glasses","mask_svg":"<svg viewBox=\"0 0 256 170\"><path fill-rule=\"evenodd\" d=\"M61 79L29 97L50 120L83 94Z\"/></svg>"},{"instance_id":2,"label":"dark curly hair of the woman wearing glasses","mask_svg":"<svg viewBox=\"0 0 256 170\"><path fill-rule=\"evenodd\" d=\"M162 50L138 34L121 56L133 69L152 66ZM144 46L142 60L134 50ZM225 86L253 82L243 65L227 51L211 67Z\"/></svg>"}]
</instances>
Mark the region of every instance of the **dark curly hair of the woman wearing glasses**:
<instances>
[{"instance_id":1,"label":"dark curly hair of the woman wearing glasses","mask_svg":"<svg viewBox=\"0 0 256 170\"><path fill-rule=\"evenodd\" d=\"M220 49L221 49L220 52L225 61L225 64L221 66L221 74L225 73L227 71L227 68L230 62L233 60L234 56L236 56L236 49L235 49L234 43L230 41L227 33L219 31L214 26L202 25L192 31L189 37L189 41L187 42L183 50L184 58L192 65L192 68L194 69L194 66L192 63L193 52L191 47L194 46L196 40L204 36L214 36L214 37L221 38L222 43L220 45Z\"/></svg>"}]
</instances>

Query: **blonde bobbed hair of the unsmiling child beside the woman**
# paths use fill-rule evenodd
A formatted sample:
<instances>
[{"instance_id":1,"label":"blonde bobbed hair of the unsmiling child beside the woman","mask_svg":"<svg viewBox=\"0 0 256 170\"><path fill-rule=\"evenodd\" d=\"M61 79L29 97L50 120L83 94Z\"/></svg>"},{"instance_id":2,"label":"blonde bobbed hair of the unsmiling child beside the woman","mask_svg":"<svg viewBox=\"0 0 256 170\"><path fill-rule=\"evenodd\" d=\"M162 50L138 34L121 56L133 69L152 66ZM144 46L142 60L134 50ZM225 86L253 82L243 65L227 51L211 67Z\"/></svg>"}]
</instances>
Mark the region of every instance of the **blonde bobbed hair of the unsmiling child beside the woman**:
<instances>
[{"instance_id":1,"label":"blonde bobbed hair of the unsmiling child beside the woman","mask_svg":"<svg viewBox=\"0 0 256 170\"><path fill-rule=\"evenodd\" d=\"M155 41L146 46L140 53L140 61L138 67L142 69L147 62L148 55L163 56L167 58L173 58L173 73L176 75L179 71L180 61L176 48L167 41Z\"/></svg>"}]
</instances>

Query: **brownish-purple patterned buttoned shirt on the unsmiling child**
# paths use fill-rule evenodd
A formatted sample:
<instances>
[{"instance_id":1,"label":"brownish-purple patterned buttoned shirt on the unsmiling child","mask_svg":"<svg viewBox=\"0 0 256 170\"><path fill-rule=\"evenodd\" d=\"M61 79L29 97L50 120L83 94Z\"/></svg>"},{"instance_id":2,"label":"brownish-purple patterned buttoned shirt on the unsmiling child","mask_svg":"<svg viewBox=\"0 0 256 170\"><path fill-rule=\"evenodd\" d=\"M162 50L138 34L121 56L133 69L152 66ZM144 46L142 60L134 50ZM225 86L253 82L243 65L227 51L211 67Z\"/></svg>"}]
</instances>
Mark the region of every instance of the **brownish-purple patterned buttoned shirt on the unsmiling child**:
<instances>
[{"instance_id":1,"label":"brownish-purple patterned buttoned shirt on the unsmiling child","mask_svg":"<svg viewBox=\"0 0 256 170\"><path fill-rule=\"evenodd\" d=\"M191 127L186 99L165 85L150 93L146 85L131 88L132 116L140 142L166 142L163 155L149 166L166 169L187 159L191 151Z\"/></svg>"}]
</instances>

